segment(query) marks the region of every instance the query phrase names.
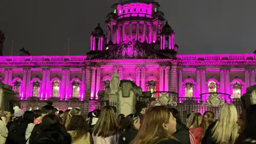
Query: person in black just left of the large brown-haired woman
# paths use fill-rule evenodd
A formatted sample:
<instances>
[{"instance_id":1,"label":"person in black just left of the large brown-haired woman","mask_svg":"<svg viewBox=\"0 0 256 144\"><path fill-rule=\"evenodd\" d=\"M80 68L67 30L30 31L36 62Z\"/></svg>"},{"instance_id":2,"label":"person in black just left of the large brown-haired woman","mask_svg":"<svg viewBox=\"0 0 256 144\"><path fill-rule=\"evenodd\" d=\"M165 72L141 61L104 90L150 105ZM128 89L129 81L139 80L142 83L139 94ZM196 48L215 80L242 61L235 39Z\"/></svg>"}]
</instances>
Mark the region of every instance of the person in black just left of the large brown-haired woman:
<instances>
[{"instance_id":1,"label":"person in black just left of the large brown-haired woman","mask_svg":"<svg viewBox=\"0 0 256 144\"><path fill-rule=\"evenodd\" d=\"M125 131L120 135L118 144L130 144L140 129L140 117L134 114L127 115L121 129Z\"/></svg>"}]
</instances>

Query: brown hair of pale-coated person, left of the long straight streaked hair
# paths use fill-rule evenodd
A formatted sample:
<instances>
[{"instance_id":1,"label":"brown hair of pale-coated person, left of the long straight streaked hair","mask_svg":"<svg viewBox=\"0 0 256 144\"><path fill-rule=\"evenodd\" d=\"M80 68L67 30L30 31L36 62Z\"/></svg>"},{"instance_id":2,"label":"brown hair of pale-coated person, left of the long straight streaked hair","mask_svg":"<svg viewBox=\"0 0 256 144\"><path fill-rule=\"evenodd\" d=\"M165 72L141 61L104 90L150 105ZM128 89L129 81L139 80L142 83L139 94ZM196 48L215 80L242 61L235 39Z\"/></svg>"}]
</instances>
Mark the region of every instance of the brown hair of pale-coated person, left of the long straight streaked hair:
<instances>
[{"instance_id":1,"label":"brown hair of pale-coated person, left of the long straight streaked hair","mask_svg":"<svg viewBox=\"0 0 256 144\"><path fill-rule=\"evenodd\" d=\"M81 115L75 115L71 117L71 120L67 126L67 131L73 131L71 134L72 141L76 141L78 139L89 136L89 128L86 122L86 119ZM85 137L85 138L86 138Z\"/></svg>"}]
</instances>

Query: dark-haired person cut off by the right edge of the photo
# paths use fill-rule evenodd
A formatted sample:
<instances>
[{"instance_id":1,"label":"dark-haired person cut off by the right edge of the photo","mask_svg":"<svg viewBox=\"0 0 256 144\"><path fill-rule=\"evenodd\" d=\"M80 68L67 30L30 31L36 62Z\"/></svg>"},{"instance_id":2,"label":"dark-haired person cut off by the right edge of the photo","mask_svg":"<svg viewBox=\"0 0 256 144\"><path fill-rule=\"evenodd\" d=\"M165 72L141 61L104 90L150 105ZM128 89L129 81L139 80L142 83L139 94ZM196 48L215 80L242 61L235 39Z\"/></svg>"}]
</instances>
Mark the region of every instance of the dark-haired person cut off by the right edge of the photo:
<instances>
[{"instance_id":1,"label":"dark-haired person cut off by the right edge of the photo","mask_svg":"<svg viewBox=\"0 0 256 144\"><path fill-rule=\"evenodd\" d=\"M256 105L250 105L244 109L237 120L239 125L239 138L236 144L256 143Z\"/></svg>"}]
</instances>

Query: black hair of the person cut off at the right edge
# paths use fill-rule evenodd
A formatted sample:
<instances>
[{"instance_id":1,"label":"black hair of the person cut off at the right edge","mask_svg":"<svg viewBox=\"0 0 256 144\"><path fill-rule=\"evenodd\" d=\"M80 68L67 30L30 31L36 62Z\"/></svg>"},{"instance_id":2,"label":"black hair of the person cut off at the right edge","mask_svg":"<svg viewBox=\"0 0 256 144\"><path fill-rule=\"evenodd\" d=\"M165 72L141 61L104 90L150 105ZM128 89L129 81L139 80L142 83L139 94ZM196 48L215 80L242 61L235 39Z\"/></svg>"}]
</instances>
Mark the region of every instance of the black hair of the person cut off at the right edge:
<instances>
[{"instance_id":1,"label":"black hair of the person cut off at the right edge","mask_svg":"<svg viewBox=\"0 0 256 144\"><path fill-rule=\"evenodd\" d=\"M243 139L256 139L256 105L250 105L245 109L245 129L242 132Z\"/></svg>"}]
</instances>

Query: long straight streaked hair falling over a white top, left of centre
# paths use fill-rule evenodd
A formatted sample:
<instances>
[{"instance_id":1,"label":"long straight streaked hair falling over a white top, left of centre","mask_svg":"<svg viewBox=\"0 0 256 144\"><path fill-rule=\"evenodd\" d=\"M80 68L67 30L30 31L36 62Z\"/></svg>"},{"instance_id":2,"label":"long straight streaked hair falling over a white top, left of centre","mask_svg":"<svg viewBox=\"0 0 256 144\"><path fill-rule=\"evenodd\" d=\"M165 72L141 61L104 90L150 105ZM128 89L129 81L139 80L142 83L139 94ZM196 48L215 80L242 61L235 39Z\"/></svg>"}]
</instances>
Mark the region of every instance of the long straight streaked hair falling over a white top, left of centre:
<instances>
[{"instance_id":1,"label":"long straight streaked hair falling over a white top, left of centre","mask_svg":"<svg viewBox=\"0 0 256 144\"><path fill-rule=\"evenodd\" d=\"M118 133L118 124L111 106L103 107L97 123L93 127L93 135L107 138Z\"/></svg>"}]
</instances>

